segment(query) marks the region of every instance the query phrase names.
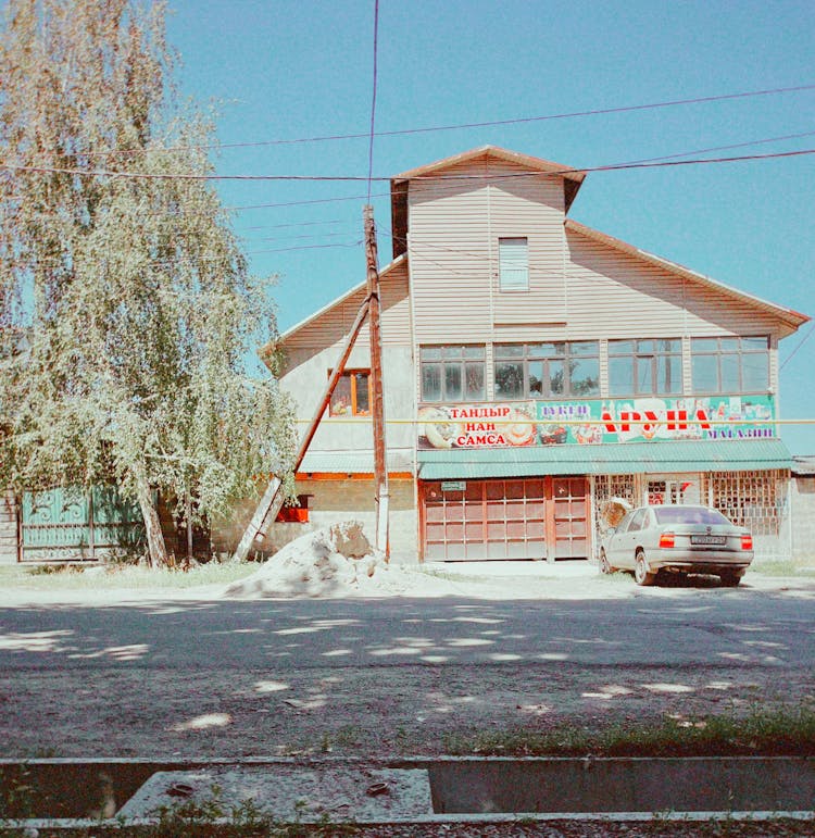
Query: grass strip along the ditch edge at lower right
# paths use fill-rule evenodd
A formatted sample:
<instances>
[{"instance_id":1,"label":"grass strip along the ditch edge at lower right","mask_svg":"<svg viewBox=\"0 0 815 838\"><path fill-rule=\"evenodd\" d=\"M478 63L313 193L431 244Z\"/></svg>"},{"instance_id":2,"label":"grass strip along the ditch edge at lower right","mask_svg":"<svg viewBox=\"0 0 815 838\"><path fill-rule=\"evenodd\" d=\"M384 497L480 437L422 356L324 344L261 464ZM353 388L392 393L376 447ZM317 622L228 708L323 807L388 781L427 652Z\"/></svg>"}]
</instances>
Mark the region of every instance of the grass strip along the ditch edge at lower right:
<instances>
[{"instance_id":1,"label":"grass strip along the ditch edge at lower right","mask_svg":"<svg viewBox=\"0 0 815 838\"><path fill-rule=\"evenodd\" d=\"M519 756L812 756L815 706L756 711L745 716L676 718L604 728L561 725L548 730L490 730L444 738L452 754Z\"/></svg>"}]
</instances>

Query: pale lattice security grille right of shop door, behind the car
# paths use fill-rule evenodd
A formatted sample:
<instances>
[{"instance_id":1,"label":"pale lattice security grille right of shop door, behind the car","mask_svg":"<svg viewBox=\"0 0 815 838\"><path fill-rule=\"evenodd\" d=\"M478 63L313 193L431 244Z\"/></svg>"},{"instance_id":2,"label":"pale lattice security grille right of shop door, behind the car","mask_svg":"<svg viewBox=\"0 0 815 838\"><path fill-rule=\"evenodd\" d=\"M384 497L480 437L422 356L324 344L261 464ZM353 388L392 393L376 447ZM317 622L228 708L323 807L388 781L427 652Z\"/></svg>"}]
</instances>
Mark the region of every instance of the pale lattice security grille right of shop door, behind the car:
<instances>
[{"instance_id":1,"label":"pale lattice security grille right of shop door, behind the car","mask_svg":"<svg viewBox=\"0 0 815 838\"><path fill-rule=\"evenodd\" d=\"M730 521L748 527L754 536L779 533L787 502L790 474L766 472L717 472L704 475L703 497Z\"/></svg>"}]
</instances>

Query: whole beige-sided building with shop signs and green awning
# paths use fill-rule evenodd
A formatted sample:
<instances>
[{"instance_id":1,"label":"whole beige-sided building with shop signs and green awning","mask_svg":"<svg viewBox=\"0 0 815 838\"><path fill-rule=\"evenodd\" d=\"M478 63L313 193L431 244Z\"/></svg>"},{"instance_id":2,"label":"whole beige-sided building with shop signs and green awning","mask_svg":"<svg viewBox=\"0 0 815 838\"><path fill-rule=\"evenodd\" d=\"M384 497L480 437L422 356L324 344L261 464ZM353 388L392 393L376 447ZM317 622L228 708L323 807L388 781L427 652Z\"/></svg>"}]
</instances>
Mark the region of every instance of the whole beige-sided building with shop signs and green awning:
<instances>
[{"instance_id":1,"label":"whole beige-sided building with shop signs and green awning","mask_svg":"<svg viewBox=\"0 0 815 838\"><path fill-rule=\"evenodd\" d=\"M572 220L584 178L488 146L392 179L393 556L588 559L610 498L709 503L789 555L778 343L808 317ZM300 418L364 297L280 337ZM373 522L369 367L365 327L297 475L313 524Z\"/></svg>"}]
</instances>

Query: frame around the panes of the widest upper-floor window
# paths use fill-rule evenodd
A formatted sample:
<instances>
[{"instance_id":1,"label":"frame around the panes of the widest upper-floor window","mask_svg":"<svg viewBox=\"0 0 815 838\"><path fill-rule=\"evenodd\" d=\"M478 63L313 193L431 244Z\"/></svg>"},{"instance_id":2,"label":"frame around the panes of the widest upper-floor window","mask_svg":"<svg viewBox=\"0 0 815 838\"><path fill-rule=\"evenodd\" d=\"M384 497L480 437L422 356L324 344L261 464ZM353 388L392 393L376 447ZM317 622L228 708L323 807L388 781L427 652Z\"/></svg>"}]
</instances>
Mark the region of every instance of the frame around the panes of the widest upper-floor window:
<instances>
[{"instance_id":1,"label":"frame around the panes of the widest upper-floor window","mask_svg":"<svg viewBox=\"0 0 815 838\"><path fill-rule=\"evenodd\" d=\"M577 345L593 345L593 352L575 352L573 347ZM556 349L552 354L542 354L539 350L536 352L535 347L551 346L553 348L563 347L562 352L557 352ZM502 355L501 350L509 347L521 347L521 355ZM530 349L532 348L532 349ZM591 359L597 364L597 384L594 392L592 393L576 393L573 390L572 383L572 370L570 362L579 361L581 359ZM519 396L499 396L498 390L498 366L500 364L509 364L513 362L519 362L523 365L523 392ZM541 363L541 390L539 393L532 393L529 390L529 364ZM551 372L551 363L561 364L563 371L563 392L552 392L551 383L553 373ZM497 401L527 401L529 399L537 399L539 401L557 401L562 399L599 399L600 392L600 341L599 340L546 340L539 342L505 342L493 343L492 346L492 385L496 391Z\"/></svg>"}]
</instances>

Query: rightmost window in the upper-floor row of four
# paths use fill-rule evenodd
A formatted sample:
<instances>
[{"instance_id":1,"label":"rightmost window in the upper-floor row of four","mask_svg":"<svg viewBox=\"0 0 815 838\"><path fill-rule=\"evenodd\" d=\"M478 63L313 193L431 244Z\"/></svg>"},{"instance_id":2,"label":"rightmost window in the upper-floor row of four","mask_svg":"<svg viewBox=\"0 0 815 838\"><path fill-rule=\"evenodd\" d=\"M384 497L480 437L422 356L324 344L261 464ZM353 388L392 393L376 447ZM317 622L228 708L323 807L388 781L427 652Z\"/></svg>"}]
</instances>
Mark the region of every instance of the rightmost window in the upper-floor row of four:
<instances>
[{"instance_id":1,"label":"rightmost window in the upper-floor row of four","mask_svg":"<svg viewBox=\"0 0 815 838\"><path fill-rule=\"evenodd\" d=\"M693 338L693 392L744 393L769 389L769 338Z\"/></svg>"}]
</instances>

